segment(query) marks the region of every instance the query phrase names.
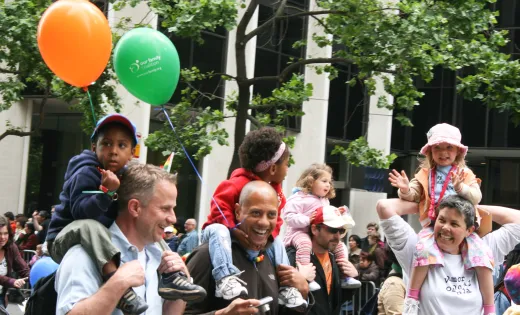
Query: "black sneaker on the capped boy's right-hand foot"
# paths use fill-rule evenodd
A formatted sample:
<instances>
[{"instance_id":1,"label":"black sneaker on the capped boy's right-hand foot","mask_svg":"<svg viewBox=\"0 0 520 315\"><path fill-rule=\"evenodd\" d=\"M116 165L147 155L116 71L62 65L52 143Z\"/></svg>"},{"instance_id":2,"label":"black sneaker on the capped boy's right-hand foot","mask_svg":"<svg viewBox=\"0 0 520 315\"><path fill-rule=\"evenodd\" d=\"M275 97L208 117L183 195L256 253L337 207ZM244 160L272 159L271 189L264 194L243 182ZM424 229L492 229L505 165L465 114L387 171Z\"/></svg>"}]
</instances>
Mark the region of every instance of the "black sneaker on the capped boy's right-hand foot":
<instances>
[{"instance_id":1,"label":"black sneaker on the capped boy's right-hand foot","mask_svg":"<svg viewBox=\"0 0 520 315\"><path fill-rule=\"evenodd\" d=\"M159 295L165 300L200 302L206 298L206 290L191 283L184 273L175 272L162 275Z\"/></svg>"}]
</instances>

